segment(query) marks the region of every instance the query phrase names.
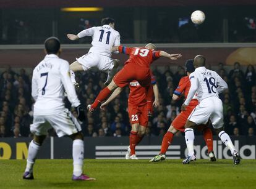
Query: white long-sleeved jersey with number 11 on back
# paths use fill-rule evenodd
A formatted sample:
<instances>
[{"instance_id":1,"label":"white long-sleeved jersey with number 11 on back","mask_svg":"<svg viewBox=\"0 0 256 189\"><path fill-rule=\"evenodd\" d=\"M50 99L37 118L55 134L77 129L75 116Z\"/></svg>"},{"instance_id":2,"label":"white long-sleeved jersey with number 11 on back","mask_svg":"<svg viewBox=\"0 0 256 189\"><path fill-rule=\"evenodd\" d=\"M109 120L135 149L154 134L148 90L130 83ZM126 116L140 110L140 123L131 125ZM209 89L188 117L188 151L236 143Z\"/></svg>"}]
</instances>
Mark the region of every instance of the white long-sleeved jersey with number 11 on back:
<instances>
[{"instance_id":1,"label":"white long-sleeved jersey with number 11 on back","mask_svg":"<svg viewBox=\"0 0 256 189\"><path fill-rule=\"evenodd\" d=\"M120 34L109 25L88 28L77 34L79 38L92 36L89 52L111 57L112 47L120 45Z\"/></svg>"}]
</instances>

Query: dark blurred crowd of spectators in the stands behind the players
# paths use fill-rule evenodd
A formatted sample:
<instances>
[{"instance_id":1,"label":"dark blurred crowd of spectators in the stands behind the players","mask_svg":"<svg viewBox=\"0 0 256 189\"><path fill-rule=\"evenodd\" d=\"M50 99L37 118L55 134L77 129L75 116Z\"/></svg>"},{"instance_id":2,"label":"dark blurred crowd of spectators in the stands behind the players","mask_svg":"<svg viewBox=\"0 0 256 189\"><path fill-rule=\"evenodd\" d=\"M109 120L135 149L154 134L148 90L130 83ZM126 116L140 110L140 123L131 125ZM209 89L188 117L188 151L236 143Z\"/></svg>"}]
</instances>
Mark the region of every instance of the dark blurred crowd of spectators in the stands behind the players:
<instances>
[{"instance_id":1,"label":"dark blurred crowd of spectators in the stands behind the players","mask_svg":"<svg viewBox=\"0 0 256 189\"><path fill-rule=\"evenodd\" d=\"M239 63L229 72L223 63L216 70L228 82L229 90L220 95L224 108L224 128L231 135L255 135L256 126L256 76L254 66L249 65L243 71ZM155 66L160 90L160 106L155 108L146 130L147 136L164 135L169 125L180 111L183 99L177 102L171 100L179 79L185 76L185 70L178 66L177 70L166 66L158 70ZM10 67L0 73L0 137L29 137L30 124L33 120L33 99L31 93L31 74L24 69L15 73ZM87 107L95 99L98 92L105 87L106 74L98 71L81 72L77 74L77 89L79 99ZM117 99L107 107L107 111L98 110L87 113L83 121L83 133L87 137L120 137L129 135L130 124L127 115L127 97L129 87L126 87ZM67 102L67 107L69 107ZM75 111L72 111L75 115ZM199 133L198 133L199 134ZM49 135L55 135L49 131ZM179 133L181 135L181 133Z\"/></svg>"}]
</instances>

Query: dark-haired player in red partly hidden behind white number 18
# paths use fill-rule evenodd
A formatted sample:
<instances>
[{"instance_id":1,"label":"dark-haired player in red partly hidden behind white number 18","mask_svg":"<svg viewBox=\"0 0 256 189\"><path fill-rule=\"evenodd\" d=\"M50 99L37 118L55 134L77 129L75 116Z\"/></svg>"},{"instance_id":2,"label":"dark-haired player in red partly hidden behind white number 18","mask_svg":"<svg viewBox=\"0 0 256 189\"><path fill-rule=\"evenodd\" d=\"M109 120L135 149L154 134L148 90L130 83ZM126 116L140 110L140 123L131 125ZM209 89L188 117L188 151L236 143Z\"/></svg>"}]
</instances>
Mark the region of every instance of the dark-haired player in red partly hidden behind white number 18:
<instances>
[{"instance_id":1,"label":"dark-haired player in red partly hidden behind white number 18","mask_svg":"<svg viewBox=\"0 0 256 189\"><path fill-rule=\"evenodd\" d=\"M185 98L187 98L187 94L189 94L189 89L190 89L189 75L195 70L193 61L194 60L186 61L187 76L181 78L181 80L179 81L179 86L177 87L177 89L174 91L174 94L173 94L173 100L179 99L179 97L182 94L184 94ZM184 126L187 122L187 118L189 118L189 115L192 113L192 111L197 105L198 105L198 100L197 100L197 97L194 96L194 98L190 101L189 105L187 106L186 111L182 111L173 120L173 123L171 123L171 126L169 127L168 131L163 137L160 154L155 156L155 158L152 158L150 162L163 161L166 158L165 154L166 154L166 151L168 150L169 145L173 141L173 135L176 134L178 131L181 131L181 132L185 131ZM209 155L210 161L216 161L215 155L213 153L213 134L211 132L211 129L203 125L199 126L198 129L202 130L203 132L203 138L207 143L208 155ZM195 160L196 158L194 156L193 161Z\"/></svg>"}]
</instances>

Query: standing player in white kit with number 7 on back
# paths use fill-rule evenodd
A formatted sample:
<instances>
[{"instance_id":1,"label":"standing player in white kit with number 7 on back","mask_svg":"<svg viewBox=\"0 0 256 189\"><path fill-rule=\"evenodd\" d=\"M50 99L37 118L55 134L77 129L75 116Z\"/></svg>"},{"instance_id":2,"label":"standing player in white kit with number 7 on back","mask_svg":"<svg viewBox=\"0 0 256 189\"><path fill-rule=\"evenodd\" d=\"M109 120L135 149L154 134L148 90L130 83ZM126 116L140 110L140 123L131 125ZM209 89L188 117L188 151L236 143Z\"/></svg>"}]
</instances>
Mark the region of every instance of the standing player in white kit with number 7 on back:
<instances>
[{"instance_id":1,"label":"standing player in white kit with number 7 on back","mask_svg":"<svg viewBox=\"0 0 256 189\"><path fill-rule=\"evenodd\" d=\"M28 147L27 167L23 179L34 179L33 165L38 151L53 127L58 137L68 135L73 140L72 180L95 180L83 174L83 135L77 119L64 107L64 90L72 107L77 111L78 119L83 121L85 113L70 79L69 63L59 58L61 44L58 38L45 41L45 58L33 70L32 97L35 99L33 124L30 131L34 138Z\"/></svg>"}]
</instances>

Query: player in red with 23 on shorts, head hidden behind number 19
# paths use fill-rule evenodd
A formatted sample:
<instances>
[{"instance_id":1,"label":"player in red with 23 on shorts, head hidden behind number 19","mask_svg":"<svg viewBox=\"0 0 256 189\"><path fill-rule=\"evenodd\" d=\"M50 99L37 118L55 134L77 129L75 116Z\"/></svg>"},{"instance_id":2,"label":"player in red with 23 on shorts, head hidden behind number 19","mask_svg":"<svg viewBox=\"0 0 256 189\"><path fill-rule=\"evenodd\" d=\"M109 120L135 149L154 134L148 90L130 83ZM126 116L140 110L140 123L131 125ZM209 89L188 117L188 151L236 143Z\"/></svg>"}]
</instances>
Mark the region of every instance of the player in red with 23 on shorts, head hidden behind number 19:
<instances>
[{"instance_id":1,"label":"player in red with 23 on shorts, head hidden behind number 19","mask_svg":"<svg viewBox=\"0 0 256 189\"><path fill-rule=\"evenodd\" d=\"M153 92L155 95L153 106L158 107L158 86L156 85L156 80L153 74L151 74L151 84L153 86ZM143 139L148 126L148 111L151 110L151 102L148 102L147 100L145 87L142 87L138 81L134 80L130 82L129 88L130 94L128 99L128 113L132 129L130 131L130 145L127 149L126 159L138 159L135 154L135 147ZM101 108L105 108L109 102L120 94L122 89L124 88L117 87L108 100L101 105Z\"/></svg>"}]
</instances>

